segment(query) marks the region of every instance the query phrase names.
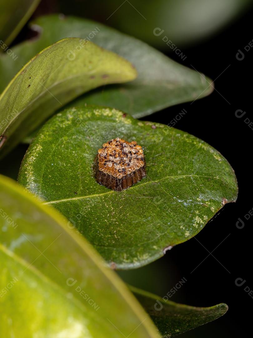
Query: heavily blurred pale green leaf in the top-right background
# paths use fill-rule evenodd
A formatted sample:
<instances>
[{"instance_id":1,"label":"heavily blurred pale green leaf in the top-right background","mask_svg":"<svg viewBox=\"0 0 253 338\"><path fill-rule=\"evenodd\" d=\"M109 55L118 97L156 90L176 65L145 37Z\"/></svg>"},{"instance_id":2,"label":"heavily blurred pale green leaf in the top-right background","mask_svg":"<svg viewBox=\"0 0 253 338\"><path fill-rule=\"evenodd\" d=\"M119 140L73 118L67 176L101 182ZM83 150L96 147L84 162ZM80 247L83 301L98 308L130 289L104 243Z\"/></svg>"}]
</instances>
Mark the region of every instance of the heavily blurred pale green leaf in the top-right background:
<instances>
[{"instance_id":1,"label":"heavily blurred pale green leaf in the top-right background","mask_svg":"<svg viewBox=\"0 0 253 338\"><path fill-rule=\"evenodd\" d=\"M172 44L189 47L219 32L246 11L252 0L135 0L120 5L121 0L106 4L101 1L101 11L109 25L173 53ZM92 10L86 15L92 15ZM157 27L163 30L159 36L153 33Z\"/></svg>"}]
</instances>

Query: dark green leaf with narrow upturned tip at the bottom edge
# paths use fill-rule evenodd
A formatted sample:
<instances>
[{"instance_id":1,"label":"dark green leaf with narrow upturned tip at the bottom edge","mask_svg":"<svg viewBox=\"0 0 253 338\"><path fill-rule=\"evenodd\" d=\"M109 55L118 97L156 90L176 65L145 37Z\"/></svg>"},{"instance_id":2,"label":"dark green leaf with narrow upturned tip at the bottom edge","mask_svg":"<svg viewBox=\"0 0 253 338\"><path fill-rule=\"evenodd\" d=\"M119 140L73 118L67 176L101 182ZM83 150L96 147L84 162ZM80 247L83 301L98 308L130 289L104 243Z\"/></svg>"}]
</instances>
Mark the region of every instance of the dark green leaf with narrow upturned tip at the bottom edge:
<instances>
[{"instance_id":1,"label":"dark green leaf with narrow upturned tip at the bottom edge","mask_svg":"<svg viewBox=\"0 0 253 338\"><path fill-rule=\"evenodd\" d=\"M168 296L163 299L132 286L130 290L134 292L136 298L154 321L163 338L174 337L209 323L223 316L228 310L228 306L224 303L208 308L199 308L177 304L168 300Z\"/></svg>"}]
</instances>

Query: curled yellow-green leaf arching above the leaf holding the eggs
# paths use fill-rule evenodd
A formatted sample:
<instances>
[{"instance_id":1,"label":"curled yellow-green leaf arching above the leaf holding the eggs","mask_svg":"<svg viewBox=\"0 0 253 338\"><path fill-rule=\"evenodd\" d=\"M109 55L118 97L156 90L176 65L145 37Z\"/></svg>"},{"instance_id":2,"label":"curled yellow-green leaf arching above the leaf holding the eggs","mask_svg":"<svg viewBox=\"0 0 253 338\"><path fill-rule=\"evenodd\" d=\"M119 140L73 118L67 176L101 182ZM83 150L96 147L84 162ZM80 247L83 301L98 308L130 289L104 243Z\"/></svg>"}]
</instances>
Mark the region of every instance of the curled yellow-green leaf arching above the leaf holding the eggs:
<instances>
[{"instance_id":1,"label":"curled yellow-green leaf arching above the leaf holding the eggs","mask_svg":"<svg viewBox=\"0 0 253 338\"><path fill-rule=\"evenodd\" d=\"M128 61L92 42L58 41L31 59L0 96L1 155L78 95L135 77Z\"/></svg>"}]
</instances>

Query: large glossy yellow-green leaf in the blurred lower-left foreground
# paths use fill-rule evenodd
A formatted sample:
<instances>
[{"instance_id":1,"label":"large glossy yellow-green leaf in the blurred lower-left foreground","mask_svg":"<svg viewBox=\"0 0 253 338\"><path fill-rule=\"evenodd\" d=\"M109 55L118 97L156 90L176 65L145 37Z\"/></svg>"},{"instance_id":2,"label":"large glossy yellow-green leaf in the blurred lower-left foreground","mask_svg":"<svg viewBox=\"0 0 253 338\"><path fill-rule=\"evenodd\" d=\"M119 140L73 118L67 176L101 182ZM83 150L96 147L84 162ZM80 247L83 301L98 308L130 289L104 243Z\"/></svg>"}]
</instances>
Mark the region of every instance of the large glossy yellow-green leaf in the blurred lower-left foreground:
<instances>
[{"instance_id":1,"label":"large glossy yellow-green leaf in the blurred lower-left foreground","mask_svg":"<svg viewBox=\"0 0 253 338\"><path fill-rule=\"evenodd\" d=\"M66 219L4 176L0 200L1 337L158 337Z\"/></svg>"}]
</instances>

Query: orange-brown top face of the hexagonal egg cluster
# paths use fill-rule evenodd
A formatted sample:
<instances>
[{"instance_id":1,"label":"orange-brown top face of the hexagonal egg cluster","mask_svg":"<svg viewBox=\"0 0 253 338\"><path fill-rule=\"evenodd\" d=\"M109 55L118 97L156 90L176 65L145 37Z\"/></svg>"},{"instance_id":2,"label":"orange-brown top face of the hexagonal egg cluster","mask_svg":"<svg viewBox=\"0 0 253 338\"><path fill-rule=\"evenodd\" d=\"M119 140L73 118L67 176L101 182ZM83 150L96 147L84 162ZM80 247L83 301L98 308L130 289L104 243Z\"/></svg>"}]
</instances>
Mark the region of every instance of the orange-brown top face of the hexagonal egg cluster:
<instances>
[{"instance_id":1,"label":"orange-brown top face of the hexagonal egg cluster","mask_svg":"<svg viewBox=\"0 0 253 338\"><path fill-rule=\"evenodd\" d=\"M144 166L143 149L136 141L127 142L117 137L98 150L98 161L100 171L122 178Z\"/></svg>"}]
</instances>

